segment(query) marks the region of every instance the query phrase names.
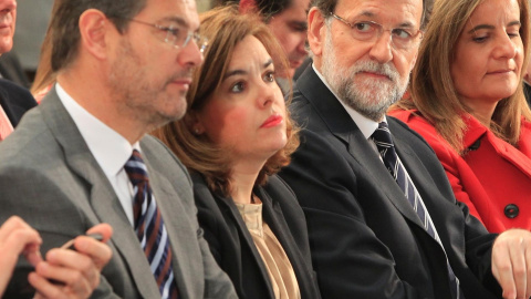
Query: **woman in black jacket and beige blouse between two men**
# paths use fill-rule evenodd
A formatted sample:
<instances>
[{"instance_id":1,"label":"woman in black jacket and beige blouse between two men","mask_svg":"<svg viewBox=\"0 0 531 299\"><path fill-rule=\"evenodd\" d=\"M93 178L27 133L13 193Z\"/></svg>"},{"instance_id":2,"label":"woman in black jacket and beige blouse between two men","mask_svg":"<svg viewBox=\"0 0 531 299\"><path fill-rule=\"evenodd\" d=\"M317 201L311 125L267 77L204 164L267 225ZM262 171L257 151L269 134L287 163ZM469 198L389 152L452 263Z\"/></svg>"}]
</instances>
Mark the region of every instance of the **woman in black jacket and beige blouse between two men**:
<instances>
[{"instance_id":1,"label":"woman in black jacket and beige blouse between two men","mask_svg":"<svg viewBox=\"0 0 531 299\"><path fill-rule=\"evenodd\" d=\"M199 224L239 298L320 298L304 215L275 175L299 145L274 81L282 49L235 7L202 14L199 32L209 48L187 113L154 134L190 171Z\"/></svg>"}]
</instances>

